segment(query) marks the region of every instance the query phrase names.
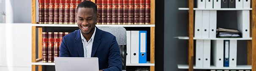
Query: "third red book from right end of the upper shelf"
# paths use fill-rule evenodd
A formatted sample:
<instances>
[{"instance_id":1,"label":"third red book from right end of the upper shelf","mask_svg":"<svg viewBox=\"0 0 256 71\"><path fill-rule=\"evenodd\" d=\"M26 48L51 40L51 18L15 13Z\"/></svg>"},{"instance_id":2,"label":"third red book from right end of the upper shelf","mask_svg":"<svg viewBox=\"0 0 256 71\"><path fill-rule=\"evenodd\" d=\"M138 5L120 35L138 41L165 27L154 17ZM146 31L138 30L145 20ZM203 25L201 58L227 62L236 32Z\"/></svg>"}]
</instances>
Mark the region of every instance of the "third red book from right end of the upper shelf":
<instances>
[{"instance_id":1,"label":"third red book from right end of the upper shelf","mask_svg":"<svg viewBox=\"0 0 256 71\"><path fill-rule=\"evenodd\" d=\"M140 0L134 0L134 25L140 24Z\"/></svg>"}]
</instances>

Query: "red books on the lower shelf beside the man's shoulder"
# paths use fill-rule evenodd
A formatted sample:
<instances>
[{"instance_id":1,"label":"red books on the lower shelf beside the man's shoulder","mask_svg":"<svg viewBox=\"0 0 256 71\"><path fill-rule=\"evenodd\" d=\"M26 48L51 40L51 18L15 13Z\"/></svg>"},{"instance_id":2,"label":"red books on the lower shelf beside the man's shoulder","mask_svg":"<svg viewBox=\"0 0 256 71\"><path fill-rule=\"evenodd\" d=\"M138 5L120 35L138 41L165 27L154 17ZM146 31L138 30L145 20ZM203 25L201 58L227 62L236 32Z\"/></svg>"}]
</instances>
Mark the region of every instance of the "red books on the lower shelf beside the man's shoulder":
<instances>
[{"instance_id":1,"label":"red books on the lower shelf beside the man's shoulder","mask_svg":"<svg viewBox=\"0 0 256 71\"><path fill-rule=\"evenodd\" d=\"M53 63L54 57L59 57L60 46L64 35L68 32L42 33L42 62Z\"/></svg>"}]
</instances>

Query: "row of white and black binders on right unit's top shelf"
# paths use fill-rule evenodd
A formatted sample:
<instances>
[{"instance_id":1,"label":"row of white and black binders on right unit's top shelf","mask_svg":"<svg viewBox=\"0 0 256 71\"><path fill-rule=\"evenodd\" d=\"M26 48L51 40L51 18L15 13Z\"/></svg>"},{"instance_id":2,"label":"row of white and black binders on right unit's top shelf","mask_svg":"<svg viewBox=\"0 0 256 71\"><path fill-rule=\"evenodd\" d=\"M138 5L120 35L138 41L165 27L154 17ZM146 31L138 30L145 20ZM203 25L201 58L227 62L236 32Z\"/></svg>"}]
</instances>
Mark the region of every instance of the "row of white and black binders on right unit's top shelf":
<instances>
[{"instance_id":1,"label":"row of white and black binders on right unit's top shelf","mask_svg":"<svg viewBox=\"0 0 256 71\"><path fill-rule=\"evenodd\" d=\"M250 8L250 0L197 0L197 8Z\"/></svg>"}]
</instances>

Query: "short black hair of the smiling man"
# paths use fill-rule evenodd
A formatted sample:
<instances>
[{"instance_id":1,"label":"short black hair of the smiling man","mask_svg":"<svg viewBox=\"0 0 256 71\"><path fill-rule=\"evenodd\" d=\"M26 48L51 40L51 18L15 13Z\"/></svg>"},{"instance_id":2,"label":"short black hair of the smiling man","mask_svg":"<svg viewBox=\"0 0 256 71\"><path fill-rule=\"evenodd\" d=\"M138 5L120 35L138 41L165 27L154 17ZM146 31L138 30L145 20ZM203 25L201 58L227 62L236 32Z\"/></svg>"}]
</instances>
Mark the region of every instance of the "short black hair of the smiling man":
<instances>
[{"instance_id":1,"label":"short black hair of the smiling man","mask_svg":"<svg viewBox=\"0 0 256 71\"><path fill-rule=\"evenodd\" d=\"M91 2L91 1L83 1L81 2L79 5L77 5L77 11L78 8L93 8L94 13L97 14L98 13L98 9L95 3Z\"/></svg>"}]
</instances>

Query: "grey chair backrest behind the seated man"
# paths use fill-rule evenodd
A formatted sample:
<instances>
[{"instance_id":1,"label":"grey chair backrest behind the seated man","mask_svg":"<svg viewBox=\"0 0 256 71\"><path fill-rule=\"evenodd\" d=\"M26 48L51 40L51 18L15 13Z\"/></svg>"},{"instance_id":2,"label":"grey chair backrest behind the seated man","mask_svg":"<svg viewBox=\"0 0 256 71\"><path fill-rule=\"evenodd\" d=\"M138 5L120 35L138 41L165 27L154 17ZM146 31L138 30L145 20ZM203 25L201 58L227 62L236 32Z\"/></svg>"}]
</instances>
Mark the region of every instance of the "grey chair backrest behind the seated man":
<instances>
[{"instance_id":1,"label":"grey chair backrest behind the seated man","mask_svg":"<svg viewBox=\"0 0 256 71\"><path fill-rule=\"evenodd\" d=\"M98 27L100 30L104 30L116 36L116 41L118 43L120 54L122 57L122 70L126 70L126 50L127 50L127 39L126 30L124 27Z\"/></svg>"}]
</instances>

